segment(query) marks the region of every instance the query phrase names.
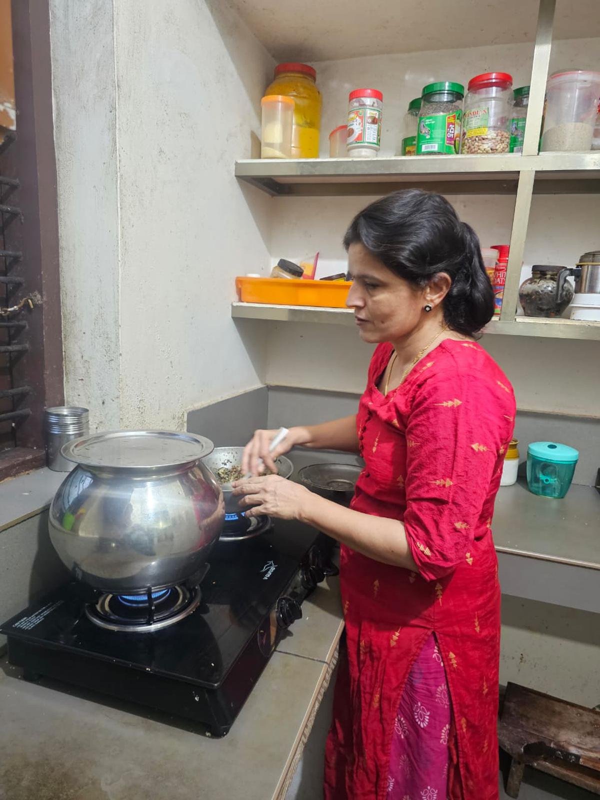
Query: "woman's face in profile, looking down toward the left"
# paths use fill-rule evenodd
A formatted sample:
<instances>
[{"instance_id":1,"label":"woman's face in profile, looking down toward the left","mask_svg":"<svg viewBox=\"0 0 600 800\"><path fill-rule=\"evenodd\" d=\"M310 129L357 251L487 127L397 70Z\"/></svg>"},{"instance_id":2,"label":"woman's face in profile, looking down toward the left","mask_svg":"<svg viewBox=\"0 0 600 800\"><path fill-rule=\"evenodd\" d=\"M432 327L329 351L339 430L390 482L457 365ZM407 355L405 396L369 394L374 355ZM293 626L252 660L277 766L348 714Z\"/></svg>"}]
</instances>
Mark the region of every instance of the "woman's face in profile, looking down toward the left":
<instances>
[{"instance_id":1,"label":"woman's face in profile, looking down toward the left","mask_svg":"<svg viewBox=\"0 0 600 800\"><path fill-rule=\"evenodd\" d=\"M363 341L395 342L422 322L427 287L399 278L360 243L348 249L348 271L354 282L346 306L354 310Z\"/></svg>"}]
</instances>

